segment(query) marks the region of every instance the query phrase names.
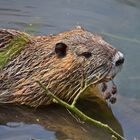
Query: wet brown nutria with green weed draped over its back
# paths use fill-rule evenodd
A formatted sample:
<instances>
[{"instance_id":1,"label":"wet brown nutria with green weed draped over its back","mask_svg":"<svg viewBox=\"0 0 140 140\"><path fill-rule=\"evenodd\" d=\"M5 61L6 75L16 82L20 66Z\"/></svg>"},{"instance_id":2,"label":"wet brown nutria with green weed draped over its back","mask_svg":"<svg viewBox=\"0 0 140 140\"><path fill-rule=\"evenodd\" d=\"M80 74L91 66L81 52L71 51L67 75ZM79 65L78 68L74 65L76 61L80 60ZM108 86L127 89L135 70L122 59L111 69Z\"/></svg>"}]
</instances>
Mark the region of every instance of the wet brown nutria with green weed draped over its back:
<instances>
[{"instance_id":1,"label":"wet brown nutria with green weed draped over its back","mask_svg":"<svg viewBox=\"0 0 140 140\"><path fill-rule=\"evenodd\" d=\"M52 103L35 79L59 98L71 101L87 84L107 82L124 62L123 54L81 27L49 36L0 30L0 103L33 107Z\"/></svg>"}]
</instances>

